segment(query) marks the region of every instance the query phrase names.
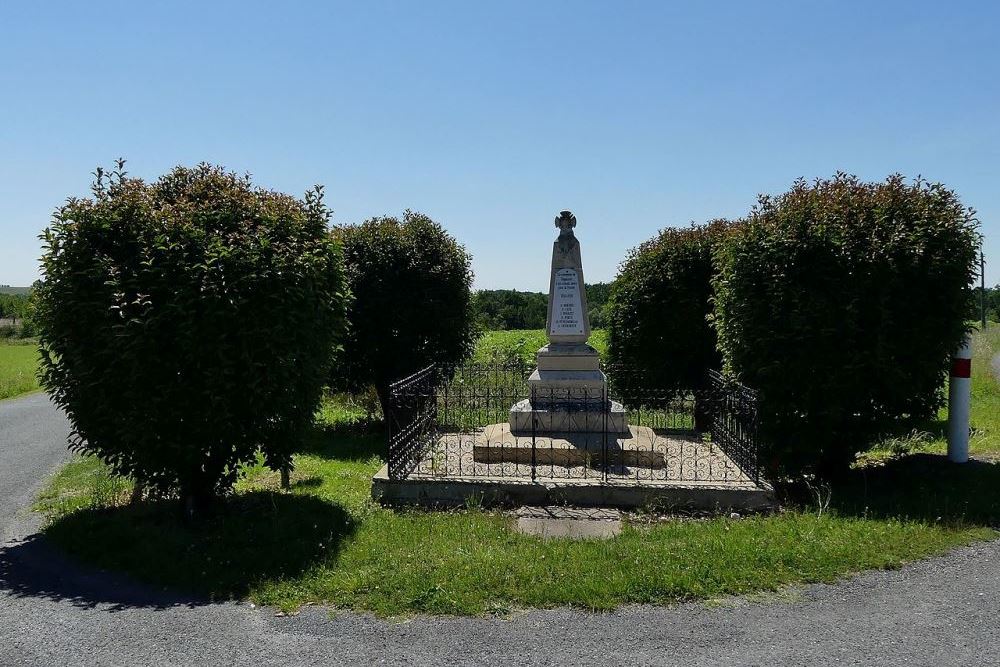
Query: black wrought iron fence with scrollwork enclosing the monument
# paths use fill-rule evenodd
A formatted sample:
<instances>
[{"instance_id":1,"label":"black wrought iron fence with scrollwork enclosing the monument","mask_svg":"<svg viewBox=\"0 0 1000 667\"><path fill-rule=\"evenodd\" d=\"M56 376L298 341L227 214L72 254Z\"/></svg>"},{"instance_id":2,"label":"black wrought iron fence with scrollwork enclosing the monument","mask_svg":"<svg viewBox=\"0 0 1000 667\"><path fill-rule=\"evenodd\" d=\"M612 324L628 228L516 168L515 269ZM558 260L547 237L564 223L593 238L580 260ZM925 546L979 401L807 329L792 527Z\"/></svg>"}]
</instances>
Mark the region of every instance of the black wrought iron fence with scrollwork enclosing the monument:
<instances>
[{"instance_id":1,"label":"black wrought iron fence with scrollwork enclosing the monument","mask_svg":"<svg viewBox=\"0 0 1000 667\"><path fill-rule=\"evenodd\" d=\"M390 388L389 475L756 484L756 396L711 374L649 389L604 366L606 387L533 388L523 363L429 366ZM627 380L627 381L626 381Z\"/></svg>"}]
</instances>

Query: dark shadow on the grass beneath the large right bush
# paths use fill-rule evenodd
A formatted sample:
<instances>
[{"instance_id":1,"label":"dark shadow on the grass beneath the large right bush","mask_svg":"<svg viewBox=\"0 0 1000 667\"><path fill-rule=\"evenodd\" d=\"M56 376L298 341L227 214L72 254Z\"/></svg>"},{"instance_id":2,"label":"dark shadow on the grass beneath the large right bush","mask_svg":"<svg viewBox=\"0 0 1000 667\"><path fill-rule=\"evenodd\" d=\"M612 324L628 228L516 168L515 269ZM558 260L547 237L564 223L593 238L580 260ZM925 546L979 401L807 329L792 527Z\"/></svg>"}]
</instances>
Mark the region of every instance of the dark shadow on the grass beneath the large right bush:
<instances>
[{"instance_id":1,"label":"dark shadow on the grass beneath the large right bush","mask_svg":"<svg viewBox=\"0 0 1000 667\"><path fill-rule=\"evenodd\" d=\"M830 508L845 516L996 528L1000 465L976 460L956 464L940 454L903 456L851 471L833 487Z\"/></svg>"}]
</instances>

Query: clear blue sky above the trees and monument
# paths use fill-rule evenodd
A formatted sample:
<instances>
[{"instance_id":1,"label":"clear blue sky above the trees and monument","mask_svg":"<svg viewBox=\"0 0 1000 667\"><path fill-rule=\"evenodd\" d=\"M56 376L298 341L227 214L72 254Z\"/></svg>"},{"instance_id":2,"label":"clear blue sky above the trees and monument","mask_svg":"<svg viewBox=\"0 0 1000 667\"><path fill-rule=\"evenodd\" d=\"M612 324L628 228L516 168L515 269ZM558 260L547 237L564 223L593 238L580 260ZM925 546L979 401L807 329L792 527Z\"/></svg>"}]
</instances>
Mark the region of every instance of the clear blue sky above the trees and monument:
<instances>
[{"instance_id":1,"label":"clear blue sky above the trees and monument","mask_svg":"<svg viewBox=\"0 0 1000 667\"><path fill-rule=\"evenodd\" d=\"M975 207L1000 283L1000 5L121 2L0 6L0 283L118 156L406 208L478 287L547 286L573 210L588 282L666 226L837 170Z\"/></svg>"}]
</instances>

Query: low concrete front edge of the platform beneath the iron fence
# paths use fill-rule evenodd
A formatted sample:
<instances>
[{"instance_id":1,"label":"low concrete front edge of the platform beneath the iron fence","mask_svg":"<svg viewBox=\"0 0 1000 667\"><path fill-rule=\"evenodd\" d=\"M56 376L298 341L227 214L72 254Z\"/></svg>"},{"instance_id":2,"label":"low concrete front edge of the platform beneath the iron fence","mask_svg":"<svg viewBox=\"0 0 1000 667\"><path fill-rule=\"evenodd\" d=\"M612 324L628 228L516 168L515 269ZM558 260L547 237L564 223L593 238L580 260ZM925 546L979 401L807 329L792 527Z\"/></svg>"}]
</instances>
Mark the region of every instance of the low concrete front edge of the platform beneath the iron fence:
<instances>
[{"instance_id":1,"label":"low concrete front edge of the platform beneath the iron fence","mask_svg":"<svg viewBox=\"0 0 1000 667\"><path fill-rule=\"evenodd\" d=\"M389 479L388 466L372 479L372 499L383 505L461 507L475 497L485 507L571 505L577 507L657 507L663 510L745 512L775 507L774 492L764 485L712 482L603 482L597 479L538 480L518 478L446 478L411 475Z\"/></svg>"}]
</instances>

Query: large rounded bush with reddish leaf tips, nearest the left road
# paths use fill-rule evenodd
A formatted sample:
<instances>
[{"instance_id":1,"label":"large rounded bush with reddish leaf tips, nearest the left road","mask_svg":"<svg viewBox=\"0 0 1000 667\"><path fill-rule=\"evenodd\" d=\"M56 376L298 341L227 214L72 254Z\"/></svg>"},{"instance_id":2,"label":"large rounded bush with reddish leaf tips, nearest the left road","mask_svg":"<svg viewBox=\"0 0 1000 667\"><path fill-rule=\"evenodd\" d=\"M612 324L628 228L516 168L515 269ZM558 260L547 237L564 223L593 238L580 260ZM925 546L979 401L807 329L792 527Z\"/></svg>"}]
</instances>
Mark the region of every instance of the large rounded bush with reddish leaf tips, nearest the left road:
<instances>
[{"instance_id":1,"label":"large rounded bush with reddish leaf tips, nearest the left road","mask_svg":"<svg viewBox=\"0 0 1000 667\"><path fill-rule=\"evenodd\" d=\"M305 200L221 168L98 169L44 232L41 380L72 449L189 512L263 451L284 469L344 325L339 248Z\"/></svg>"}]
</instances>

